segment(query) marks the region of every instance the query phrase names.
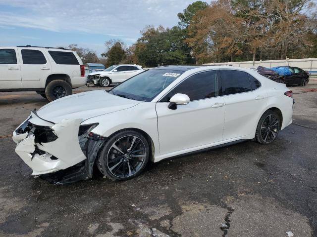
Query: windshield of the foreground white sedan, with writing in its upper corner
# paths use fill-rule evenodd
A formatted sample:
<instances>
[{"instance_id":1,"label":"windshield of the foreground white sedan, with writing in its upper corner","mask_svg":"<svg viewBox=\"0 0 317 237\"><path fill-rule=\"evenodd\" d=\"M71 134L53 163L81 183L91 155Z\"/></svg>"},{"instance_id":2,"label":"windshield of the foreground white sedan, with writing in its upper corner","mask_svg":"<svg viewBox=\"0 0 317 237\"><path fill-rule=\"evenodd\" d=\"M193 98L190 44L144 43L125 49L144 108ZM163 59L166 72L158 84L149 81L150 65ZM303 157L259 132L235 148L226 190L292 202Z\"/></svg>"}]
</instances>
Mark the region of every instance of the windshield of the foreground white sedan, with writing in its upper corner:
<instances>
[{"instance_id":1,"label":"windshield of the foreground white sedan, with writing in its upper corner","mask_svg":"<svg viewBox=\"0 0 317 237\"><path fill-rule=\"evenodd\" d=\"M182 71L151 69L115 86L109 93L133 100L151 101Z\"/></svg>"}]
</instances>

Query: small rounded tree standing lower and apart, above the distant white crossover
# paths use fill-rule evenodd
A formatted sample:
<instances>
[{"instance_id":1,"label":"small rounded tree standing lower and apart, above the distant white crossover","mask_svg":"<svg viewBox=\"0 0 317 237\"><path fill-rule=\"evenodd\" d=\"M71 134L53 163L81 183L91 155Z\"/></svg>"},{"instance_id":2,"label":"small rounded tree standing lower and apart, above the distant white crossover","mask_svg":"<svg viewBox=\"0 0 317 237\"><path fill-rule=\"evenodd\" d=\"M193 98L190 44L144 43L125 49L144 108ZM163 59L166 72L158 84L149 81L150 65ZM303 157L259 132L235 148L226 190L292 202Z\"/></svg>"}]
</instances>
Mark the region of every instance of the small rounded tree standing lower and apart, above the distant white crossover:
<instances>
[{"instance_id":1,"label":"small rounded tree standing lower and apart, above the distant white crossover","mask_svg":"<svg viewBox=\"0 0 317 237\"><path fill-rule=\"evenodd\" d=\"M102 54L106 56L106 67L121 63L125 57L125 45L121 40L109 40L105 43L107 52Z\"/></svg>"}]
</instances>

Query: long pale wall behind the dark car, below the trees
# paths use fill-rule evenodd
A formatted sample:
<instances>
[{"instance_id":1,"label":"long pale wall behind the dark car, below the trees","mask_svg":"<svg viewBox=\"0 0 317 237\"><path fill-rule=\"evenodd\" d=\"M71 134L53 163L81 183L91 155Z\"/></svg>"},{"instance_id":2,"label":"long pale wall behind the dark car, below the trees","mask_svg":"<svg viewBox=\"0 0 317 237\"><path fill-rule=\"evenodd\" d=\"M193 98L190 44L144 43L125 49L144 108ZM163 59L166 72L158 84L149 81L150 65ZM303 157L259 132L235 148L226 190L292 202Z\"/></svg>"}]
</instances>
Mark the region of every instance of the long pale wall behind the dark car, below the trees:
<instances>
[{"instance_id":1,"label":"long pale wall behind the dark car, below the trees","mask_svg":"<svg viewBox=\"0 0 317 237\"><path fill-rule=\"evenodd\" d=\"M263 66L266 68L276 66L292 66L299 67L305 71L317 71L317 58L303 58L303 59L283 59L283 60L264 60L255 61L254 65L252 61L248 62L230 62L230 63L205 63L204 65L232 65L243 68L257 68Z\"/></svg>"}]
</instances>

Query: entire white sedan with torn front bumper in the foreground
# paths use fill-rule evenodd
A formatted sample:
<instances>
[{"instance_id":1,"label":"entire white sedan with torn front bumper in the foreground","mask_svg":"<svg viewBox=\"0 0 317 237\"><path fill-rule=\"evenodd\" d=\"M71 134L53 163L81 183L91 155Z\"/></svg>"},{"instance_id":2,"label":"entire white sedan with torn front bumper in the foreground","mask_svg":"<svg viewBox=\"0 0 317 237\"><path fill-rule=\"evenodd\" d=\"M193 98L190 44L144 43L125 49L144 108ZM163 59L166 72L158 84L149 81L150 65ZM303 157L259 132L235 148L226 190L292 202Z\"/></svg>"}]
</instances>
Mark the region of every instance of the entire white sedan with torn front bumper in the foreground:
<instances>
[{"instance_id":1,"label":"entire white sedan with torn front bumper in the foreground","mask_svg":"<svg viewBox=\"0 0 317 237\"><path fill-rule=\"evenodd\" d=\"M32 175L52 183L89 179L94 164L126 180L149 161L245 139L269 144L292 114L292 91L253 70L166 66L32 111L13 140Z\"/></svg>"}]
</instances>

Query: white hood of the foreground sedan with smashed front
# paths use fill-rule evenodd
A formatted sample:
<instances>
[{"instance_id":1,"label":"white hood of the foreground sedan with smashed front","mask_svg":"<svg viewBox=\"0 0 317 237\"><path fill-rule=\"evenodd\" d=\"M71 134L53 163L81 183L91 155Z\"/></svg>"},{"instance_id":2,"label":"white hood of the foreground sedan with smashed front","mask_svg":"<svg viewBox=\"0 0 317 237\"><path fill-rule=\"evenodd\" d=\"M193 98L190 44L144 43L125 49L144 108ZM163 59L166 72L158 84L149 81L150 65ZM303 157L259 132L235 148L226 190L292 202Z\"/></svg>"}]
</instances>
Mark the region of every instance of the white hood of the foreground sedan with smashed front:
<instances>
[{"instance_id":1,"label":"white hood of the foreground sedan with smashed front","mask_svg":"<svg viewBox=\"0 0 317 237\"><path fill-rule=\"evenodd\" d=\"M142 102L112 95L105 90L94 90L54 100L39 109L37 115L54 123L58 123L64 118L86 120L128 109L139 103Z\"/></svg>"}]
</instances>

